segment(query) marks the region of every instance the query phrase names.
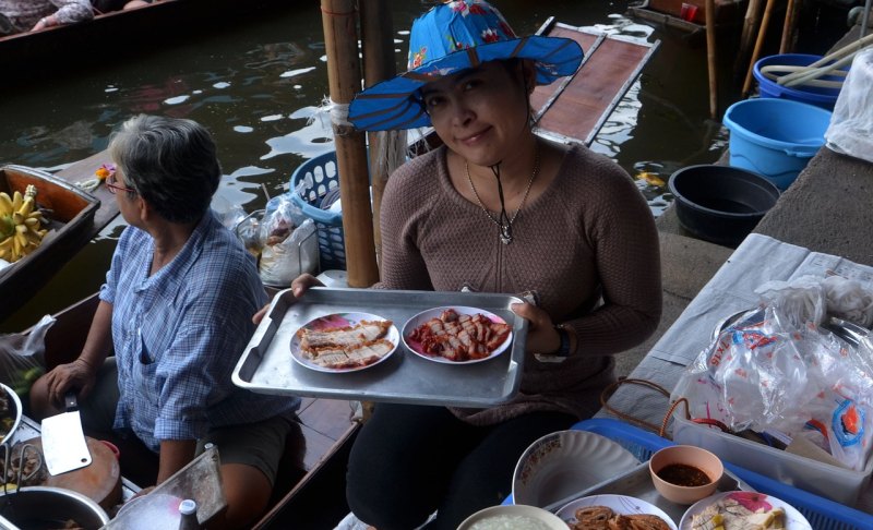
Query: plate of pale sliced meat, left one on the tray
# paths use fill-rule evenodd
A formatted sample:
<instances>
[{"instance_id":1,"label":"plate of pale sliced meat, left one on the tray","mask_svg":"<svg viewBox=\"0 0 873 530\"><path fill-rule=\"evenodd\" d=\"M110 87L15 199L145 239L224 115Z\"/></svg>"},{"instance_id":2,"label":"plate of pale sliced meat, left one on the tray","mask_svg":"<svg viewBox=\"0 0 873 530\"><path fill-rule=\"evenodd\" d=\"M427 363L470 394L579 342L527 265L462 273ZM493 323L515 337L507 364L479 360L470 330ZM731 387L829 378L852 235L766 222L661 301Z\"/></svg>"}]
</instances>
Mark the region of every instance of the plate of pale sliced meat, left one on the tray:
<instances>
[{"instance_id":1,"label":"plate of pale sliced meat, left one on the tray","mask_svg":"<svg viewBox=\"0 0 873 530\"><path fill-rule=\"evenodd\" d=\"M385 361L399 342L392 321L370 313L332 313L295 332L291 357L319 372L357 372Z\"/></svg>"}]
</instances>

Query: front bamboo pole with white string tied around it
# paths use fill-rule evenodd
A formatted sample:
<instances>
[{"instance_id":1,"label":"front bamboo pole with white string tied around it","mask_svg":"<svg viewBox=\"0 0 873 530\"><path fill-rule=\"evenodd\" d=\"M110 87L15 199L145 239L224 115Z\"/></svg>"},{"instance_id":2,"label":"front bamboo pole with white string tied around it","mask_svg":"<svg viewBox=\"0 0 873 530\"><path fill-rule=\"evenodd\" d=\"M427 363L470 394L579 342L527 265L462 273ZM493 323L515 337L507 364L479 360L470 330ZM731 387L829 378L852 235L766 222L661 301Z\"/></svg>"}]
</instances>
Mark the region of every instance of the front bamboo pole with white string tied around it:
<instances>
[{"instance_id":1,"label":"front bamboo pole with white string tied around it","mask_svg":"<svg viewBox=\"0 0 873 530\"><path fill-rule=\"evenodd\" d=\"M351 103L361 87L358 60L356 0L321 0L327 82L333 105ZM343 201L343 231L349 287L370 287L379 281L370 208L370 178L363 133L342 118L333 118L336 169Z\"/></svg>"}]
</instances>

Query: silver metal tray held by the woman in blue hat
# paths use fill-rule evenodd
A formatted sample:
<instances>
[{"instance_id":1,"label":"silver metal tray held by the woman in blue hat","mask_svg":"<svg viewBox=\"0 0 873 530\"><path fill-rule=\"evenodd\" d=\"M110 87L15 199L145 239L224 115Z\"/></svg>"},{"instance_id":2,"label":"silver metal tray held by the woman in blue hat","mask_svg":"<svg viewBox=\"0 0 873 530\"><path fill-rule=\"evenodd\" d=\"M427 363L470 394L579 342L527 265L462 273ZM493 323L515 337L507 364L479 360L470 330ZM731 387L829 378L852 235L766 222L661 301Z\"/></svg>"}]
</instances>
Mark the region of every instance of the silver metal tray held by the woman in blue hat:
<instances>
[{"instance_id":1,"label":"silver metal tray held by the woman in blue hat","mask_svg":"<svg viewBox=\"0 0 873 530\"><path fill-rule=\"evenodd\" d=\"M286 289L274 297L234 370L232 381L261 394L455 407L498 405L518 392L524 365L527 321L510 309L517 302L523 300L510 294L324 287L296 299ZM501 316L512 326L512 347L485 362L452 365L421 359L402 342L384 362L348 373L316 372L291 358L295 332L312 318L366 312L392 320L403 330L415 314L443 305L474 306Z\"/></svg>"}]
</instances>

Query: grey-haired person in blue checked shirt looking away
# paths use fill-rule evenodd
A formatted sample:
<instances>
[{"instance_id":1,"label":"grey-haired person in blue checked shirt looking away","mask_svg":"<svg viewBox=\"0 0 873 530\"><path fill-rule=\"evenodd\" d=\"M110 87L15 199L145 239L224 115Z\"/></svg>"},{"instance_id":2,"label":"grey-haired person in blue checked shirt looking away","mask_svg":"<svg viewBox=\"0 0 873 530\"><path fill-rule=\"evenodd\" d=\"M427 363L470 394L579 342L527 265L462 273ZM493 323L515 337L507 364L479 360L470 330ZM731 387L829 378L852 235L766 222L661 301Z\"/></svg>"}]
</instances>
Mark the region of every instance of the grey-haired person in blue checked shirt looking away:
<instances>
[{"instance_id":1,"label":"grey-haired person in blue checked shirt looking away","mask_svg":"<svg viewBox=\"0 0 873 530\"><path fill-rule=\"evenodd\" d=\"M132 433L159 454L158 484L215 444L228 507L211 528L244 528L267 506L300 399L230 380L267 297L254 258L210 208L215 144L191 120L141 115L109 155L106 185L130 226L82 352L35 383L32 411L57 413L76 392L89 432Z\"/></svg>"}]
</instances>

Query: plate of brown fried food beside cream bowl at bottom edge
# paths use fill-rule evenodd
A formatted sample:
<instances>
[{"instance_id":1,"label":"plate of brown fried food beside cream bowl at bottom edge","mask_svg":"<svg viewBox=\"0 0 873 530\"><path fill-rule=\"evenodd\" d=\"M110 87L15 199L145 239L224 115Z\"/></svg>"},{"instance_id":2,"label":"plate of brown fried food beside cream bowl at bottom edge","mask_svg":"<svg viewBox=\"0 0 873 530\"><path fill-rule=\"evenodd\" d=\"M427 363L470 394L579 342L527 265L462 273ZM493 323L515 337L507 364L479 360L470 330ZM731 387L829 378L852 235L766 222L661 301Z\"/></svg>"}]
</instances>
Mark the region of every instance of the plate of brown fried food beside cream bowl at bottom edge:
<instances>
[{"instance_id":1,"label":"plate of brown fried food beside cream bowl at bottom edge","mask_svg":"<svg viewBox=\"0 0 873 530\"><path fill-rule=\"evenodd\" d=\"M646 528L677 530L662 509L627 495L591 495L567 503L555 514L571 530Z\"/></svg>"}]
</instances>

